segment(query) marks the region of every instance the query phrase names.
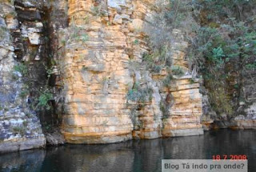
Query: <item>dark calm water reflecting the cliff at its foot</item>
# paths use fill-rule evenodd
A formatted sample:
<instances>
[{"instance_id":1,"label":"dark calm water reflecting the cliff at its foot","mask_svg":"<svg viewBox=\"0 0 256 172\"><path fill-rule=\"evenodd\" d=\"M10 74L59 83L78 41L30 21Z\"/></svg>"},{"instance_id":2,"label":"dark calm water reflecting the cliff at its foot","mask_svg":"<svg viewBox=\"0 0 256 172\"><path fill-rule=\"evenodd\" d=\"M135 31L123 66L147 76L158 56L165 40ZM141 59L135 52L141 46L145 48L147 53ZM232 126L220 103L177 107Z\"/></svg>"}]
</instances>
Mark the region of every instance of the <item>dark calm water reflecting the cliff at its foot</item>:
<instances>
[{"instance_id":1,"label":"dark calm water reflecting the cliff at its foot","mask_svg":"<svg viewBox=\"0 0 256 172\"><path fill-rule=\"evenodd\" d=\"M246 154L256 171L256 131L207 131L205 135L108 145L66 145L0 155L0 171L161 171L161 159L210 159Z\"/></svg>"}]
</instances>

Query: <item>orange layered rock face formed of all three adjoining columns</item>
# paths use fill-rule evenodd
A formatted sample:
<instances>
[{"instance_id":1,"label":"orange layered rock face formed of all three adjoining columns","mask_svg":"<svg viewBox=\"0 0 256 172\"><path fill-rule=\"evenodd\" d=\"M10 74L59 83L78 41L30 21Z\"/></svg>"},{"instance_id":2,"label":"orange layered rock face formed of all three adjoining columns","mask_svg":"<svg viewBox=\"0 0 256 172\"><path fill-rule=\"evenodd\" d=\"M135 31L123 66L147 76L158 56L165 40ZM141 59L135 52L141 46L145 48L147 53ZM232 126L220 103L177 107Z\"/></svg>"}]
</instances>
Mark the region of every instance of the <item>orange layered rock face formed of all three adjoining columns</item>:
<instances>
[{"instance_id":1,"label":"orange layered rock face formed of all three adjoining columns","mask_svg":"<svg viewBox=\"0 0 256 172\"><path fill-rule=\"evenodd\" d=\"M166 70L152 74L142 65L142 54L150 50L143 29L153 4L68 2L69 27L58 31L58 66L66 97L62 133L68 143L202 134L198 80L191 84L187 72L165 88ZM173 64L188 71L187 43L179 30L173 34L178 37ZM135 86L146 92L143 102L127 99Z\"/></svg>"}]
</instances>

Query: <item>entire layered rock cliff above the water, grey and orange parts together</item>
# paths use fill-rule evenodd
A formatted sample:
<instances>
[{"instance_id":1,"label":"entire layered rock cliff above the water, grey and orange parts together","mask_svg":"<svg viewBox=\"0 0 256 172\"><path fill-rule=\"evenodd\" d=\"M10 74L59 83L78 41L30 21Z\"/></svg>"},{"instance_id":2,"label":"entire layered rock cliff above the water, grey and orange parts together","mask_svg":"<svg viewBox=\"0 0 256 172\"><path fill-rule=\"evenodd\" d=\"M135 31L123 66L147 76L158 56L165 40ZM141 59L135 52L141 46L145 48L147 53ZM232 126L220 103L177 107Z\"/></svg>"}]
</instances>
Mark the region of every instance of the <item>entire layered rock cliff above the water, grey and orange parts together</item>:
<instances>
[{"instance_id":1,"label":"entire layered rock cliff above the water, grey and orange parts together","mask_svg":"<svg viewBox=\"0 0 256 172\"><path fill-rule=\"evenodd\" d=\"M216 112L189 67L185 34L155 21L157 3L2 0L0 152L58 144L49 123L67 143L202 135ZM171 41L156 52L152 37ZM218 126L255 128L254 74L241 79L246 115Z\"/></svg>"}]
</instances>

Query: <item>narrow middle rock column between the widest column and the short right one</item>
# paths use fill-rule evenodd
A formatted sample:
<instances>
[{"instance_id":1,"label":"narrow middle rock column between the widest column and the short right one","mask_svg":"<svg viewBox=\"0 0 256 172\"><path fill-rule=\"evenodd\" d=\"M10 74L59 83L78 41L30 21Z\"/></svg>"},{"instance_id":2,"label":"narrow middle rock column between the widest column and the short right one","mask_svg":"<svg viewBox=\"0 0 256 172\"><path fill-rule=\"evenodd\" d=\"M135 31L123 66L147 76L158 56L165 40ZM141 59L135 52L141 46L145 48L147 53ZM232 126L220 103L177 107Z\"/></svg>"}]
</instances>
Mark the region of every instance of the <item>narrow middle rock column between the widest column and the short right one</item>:
<instances>
[{"instance_id":1,"label":"narrow middle rock column between the widest column and the short right one","mask_svg":"<svg viewBox=\"0 0 256 172\"><path fill-rule=\"evenodd\" d=\"M148 92L144 100L138 102L128 101L133 116L135 139L156 139L162 137L162 111L160 110L161 95L158 80L154 80L152 73L142 63L143 53L150 51L149 42L146 42L146 25L154 11L155 1L131 1L133 13L128 24L129 49L131 53L130 73L134 84L138 84L140 91Z\"/></svg>"}]
</instances>

